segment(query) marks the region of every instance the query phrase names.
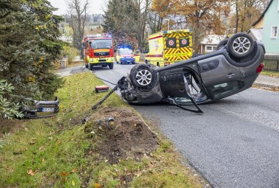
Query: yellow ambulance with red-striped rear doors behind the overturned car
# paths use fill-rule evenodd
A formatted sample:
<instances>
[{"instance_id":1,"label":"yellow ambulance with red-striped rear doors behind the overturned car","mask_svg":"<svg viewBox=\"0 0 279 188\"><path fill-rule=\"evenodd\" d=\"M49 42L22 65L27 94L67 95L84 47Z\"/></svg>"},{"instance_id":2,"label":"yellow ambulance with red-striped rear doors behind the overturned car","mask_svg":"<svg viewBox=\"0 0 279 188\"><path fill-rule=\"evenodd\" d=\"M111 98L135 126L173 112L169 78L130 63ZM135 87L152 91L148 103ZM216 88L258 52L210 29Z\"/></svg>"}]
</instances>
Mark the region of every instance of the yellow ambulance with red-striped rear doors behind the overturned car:
<instances>
[{"instance_id":1,"label":"yellow ambulance with red-striped rear doors behind the overturned car","mask_svg":"<svg viewBox=\"0 0 279 188\"><path fill-rule=\"evenodd\" d=\"M193 56L192 29L160 31L148 40L146 63L163 67Z\"/></svg>"}]
</instances>

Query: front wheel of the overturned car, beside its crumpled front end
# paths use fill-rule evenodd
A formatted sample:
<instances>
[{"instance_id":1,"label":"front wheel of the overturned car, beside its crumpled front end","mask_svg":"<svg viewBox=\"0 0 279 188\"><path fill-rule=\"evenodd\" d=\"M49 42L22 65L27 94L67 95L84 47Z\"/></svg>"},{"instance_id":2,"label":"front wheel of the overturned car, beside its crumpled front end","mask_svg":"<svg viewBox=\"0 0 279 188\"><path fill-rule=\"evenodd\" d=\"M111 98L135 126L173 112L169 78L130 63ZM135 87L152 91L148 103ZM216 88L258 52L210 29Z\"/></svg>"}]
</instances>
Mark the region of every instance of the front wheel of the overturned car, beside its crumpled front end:
<instances>
[{"instance_id":1,"label":"front wheel of the overturned car, beside its crumpled front end","mask_svg":"<svg viewBox=\"0 0 279 188\"><path fill-rule=\"evenodd\" d=\"M148 88L153 81L153 70L149 65L135 65L130 71L130 80L138 88Z\"/></svg>"}]
</instances>

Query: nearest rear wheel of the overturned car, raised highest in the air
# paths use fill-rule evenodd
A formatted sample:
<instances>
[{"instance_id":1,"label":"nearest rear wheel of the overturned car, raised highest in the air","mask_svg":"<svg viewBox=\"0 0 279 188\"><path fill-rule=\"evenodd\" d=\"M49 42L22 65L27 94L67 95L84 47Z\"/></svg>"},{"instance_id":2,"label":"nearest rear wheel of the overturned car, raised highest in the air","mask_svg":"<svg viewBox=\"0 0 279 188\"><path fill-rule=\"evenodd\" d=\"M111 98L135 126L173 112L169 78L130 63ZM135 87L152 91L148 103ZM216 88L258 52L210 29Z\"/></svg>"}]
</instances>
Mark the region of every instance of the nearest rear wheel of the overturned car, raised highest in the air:
<instances>
[{"instance_id":1,"label":"nearest rear wheel of the overturned car, raised highest in the air","mask_svg":"<svg viewBox=\"0 0 279 188\"><path fill-rule=\"evenodd\" d=\"M237 33L227 42L227 51L235 58L244 58L249 56L255 48L255 42L251 36L246 33Z\"/></svg>"}]
</instances>

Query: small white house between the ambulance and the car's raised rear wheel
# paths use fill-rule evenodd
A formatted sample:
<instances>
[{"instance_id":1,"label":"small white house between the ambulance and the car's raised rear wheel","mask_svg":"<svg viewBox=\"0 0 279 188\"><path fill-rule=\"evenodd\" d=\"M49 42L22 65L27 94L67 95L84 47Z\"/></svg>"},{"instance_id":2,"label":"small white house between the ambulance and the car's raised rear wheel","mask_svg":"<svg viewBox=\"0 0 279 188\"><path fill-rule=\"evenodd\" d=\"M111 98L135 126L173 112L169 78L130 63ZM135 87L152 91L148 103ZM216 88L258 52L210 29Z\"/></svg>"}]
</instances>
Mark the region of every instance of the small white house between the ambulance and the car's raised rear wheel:
<instances>
[{"instance_id":1,"label":"small white house between the ambulance and the car's raised rear wheel","mask_svg":"<svg viewBox=\"0 0 279 188\"><path fill-rule=\"evenodd\" d=\"M226 36L208 35L201 42L201 53L206 54L213 52L217 49L217 46L221 40L224 40Z\"/></svg>"}]
</instances>

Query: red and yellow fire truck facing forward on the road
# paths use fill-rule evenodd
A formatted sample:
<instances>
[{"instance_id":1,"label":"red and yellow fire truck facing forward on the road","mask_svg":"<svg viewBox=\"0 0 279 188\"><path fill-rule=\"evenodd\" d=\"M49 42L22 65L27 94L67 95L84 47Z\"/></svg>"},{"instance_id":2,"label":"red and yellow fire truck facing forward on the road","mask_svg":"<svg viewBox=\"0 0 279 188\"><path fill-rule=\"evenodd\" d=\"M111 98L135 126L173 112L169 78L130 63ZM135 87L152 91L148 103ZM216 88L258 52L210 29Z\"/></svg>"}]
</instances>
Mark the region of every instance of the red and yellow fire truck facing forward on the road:
<instances>
[{"instance_id":1,"label":"red and yellow fire truck facing forward on the road","mask_svg":"<svg viewBox=\"0 0 279 188\"><path fill-rule=\"evenodd\" d=\"M85 36L83 40L85 67L114 67L112 36L107 33Z\"/></svg>"}]
</instances>

